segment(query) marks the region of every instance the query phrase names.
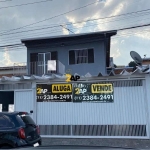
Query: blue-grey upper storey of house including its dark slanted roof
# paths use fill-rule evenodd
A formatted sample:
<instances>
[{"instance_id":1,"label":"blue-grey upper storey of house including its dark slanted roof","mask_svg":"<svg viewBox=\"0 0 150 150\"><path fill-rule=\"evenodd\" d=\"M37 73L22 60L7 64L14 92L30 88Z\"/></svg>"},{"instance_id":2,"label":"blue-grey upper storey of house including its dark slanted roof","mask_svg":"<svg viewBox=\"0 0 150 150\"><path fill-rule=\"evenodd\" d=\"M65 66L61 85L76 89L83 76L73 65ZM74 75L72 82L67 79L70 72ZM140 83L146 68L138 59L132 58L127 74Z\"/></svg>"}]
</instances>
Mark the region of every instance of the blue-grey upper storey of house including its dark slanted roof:
<instances>
[{"instance_id":1,"label":"blue-grey upper storey of house including its dark slanted roof","mask_svg":"<svg viewBox=\"0 0 150 150\"><path fill-rule=\"evenodd\" d=\"M79 75L107 74L111 36L116 34L117 31L107 31L22 39L27 47L28 74L52 73L47 69L48 60L56 60L56 73L71 70Z\"/></svg>"}]
</instances>

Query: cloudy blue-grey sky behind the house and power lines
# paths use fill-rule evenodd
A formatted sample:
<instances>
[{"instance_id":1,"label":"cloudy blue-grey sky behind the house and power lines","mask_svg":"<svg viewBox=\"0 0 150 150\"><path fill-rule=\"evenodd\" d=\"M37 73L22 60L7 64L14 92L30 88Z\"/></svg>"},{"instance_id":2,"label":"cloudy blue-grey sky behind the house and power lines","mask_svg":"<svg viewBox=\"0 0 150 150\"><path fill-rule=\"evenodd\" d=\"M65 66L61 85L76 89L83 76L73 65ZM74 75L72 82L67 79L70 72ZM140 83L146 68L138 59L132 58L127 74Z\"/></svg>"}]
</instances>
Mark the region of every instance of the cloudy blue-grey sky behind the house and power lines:
<instances>
[{"instance_id":1,"label":"cloudy blue-grey sky behind the house and power lines","mask_svg":"<svg viewBox=\"0 0 150 150\"><path fill-rule=\"evenodd\" d=\"M150 0L0 0L0 67L26 64L26 47L5 46L20 44L21 39L144 25L150 23L149 12ZM118 31L111 38L117 66L132 61L130 51L150 57L149 48L150 26Z\"/></svg>"}]
</instances>

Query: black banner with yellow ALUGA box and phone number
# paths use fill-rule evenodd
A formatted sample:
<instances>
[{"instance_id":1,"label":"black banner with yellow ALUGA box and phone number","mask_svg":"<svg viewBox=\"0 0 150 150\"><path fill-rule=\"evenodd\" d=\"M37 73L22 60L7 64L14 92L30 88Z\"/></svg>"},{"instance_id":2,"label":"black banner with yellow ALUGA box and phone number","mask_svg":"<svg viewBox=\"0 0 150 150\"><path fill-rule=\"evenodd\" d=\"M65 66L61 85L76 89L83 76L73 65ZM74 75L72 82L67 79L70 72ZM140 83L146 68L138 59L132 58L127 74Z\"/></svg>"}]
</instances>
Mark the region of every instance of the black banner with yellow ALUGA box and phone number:
<instances>
[{"instance_id":1,"label":"black banner with yellow ALUGA box and phone number","mask_svg":"<svg viewBox=\"0 0 150 150\"><path fill-rule=\"evenodd\" d=\"M37 84L37 102L71 102L72 84Z\"/></svg>"}]
</instances>

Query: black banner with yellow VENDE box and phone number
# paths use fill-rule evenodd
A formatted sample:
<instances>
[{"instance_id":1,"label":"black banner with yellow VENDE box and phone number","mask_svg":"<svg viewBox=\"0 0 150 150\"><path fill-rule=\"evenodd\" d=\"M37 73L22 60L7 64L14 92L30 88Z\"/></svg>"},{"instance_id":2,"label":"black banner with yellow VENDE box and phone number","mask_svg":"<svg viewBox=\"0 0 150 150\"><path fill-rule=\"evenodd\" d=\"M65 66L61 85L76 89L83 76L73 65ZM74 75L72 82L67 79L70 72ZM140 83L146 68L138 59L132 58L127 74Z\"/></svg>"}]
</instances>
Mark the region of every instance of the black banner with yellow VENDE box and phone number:
<instances>
[{"instance_id":1,"label":"black banner with yellow VENDE box and phone number","mask_svg":"<svg viewBox=\"0 0 150 150\"><path fill-rule=\"evenodd\" d=\"M73 84L73 102L104 102L114 101L113 84L75 83Z\"/></svg>"}]
</instances>

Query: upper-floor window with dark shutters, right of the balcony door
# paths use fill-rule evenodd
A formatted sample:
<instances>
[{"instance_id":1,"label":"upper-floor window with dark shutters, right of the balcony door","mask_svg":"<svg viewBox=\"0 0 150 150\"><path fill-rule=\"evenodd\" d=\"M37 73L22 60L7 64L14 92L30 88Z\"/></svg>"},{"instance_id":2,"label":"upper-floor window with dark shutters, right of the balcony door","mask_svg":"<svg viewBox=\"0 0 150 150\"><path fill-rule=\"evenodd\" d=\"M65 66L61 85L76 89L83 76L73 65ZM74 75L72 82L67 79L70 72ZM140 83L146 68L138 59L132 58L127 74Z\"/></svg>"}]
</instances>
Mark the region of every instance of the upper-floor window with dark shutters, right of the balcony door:
<instances>
[{"instance_id":1,"label":"upper-floor window with dark shutters, right of the balcony door","mask_svg":"<svg viewBox=\"0 0 150 150\"><path fill-rule=\"evenodd\" d=\"M82 63L94 63L93 49L79 49L69 51L69 65Z\"/></svg>"}]
</instances>

